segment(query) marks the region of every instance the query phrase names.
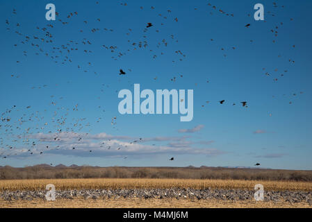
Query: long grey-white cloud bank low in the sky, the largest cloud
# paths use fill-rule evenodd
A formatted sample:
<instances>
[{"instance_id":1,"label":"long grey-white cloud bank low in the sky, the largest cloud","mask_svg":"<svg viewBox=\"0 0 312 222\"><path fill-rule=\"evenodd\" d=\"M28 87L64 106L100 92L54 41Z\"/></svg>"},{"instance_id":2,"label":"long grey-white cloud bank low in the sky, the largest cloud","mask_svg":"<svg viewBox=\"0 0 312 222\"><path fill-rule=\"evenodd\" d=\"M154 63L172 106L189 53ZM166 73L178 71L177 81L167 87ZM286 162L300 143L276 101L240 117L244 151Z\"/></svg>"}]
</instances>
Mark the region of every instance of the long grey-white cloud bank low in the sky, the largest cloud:
<instances>
[{"instance_id":1,"label":"long grey-white cloud bank low in the sky, the largest cloud","mask_svg":"<svg viewBox=\"0 0 312 222\"><path fill-rule=\"evenodd\" d=\"M88 133L56 133L31 135L37 139L36 145L28 151L28 148L19 147L14 152L17 156L47 155L49 153L73 156L106 156L118 157L128 155L159 155L159 154L199 154L199 155L222 155L223 151L216 148L194 148L190 145L197 142L186 141L188 137L151 137L133 138L126 136L113 136L106 133L91 135ZM167 146L150 145L145 142L170 141ZM49 146L47 148L47 146ZM73 149L74 148L74 149ZM92 152L90 152L92 151ZM30 153L33 152L33 155Z\"/></svg>"}]
</instances>

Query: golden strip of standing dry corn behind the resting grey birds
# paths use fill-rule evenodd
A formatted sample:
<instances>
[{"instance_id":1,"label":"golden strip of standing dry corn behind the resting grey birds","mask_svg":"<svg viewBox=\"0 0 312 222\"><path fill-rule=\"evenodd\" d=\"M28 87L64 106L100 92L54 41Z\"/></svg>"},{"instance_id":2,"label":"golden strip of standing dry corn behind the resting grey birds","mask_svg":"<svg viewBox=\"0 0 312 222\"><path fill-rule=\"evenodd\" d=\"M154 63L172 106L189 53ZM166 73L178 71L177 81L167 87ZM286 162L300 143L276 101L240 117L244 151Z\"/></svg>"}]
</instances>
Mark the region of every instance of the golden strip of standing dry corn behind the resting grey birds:
<instances>
[{"instance_id":1,"label":"golden strip of standing dry corn behind the resting grey birds","mask_svg":"<svg viewBox=\"0 0 312 222\"><path fill-rule=\"evenodd\" d=\"M92 179L38 179L0 180L0 191L44 190L53 184L56 190L70 189L254 189L262 184L266 191L312 191L312 182L287 182L265 180L196 180L196 179L133 179L133 178L92 178Z\"/></svg>"}]
</instances>

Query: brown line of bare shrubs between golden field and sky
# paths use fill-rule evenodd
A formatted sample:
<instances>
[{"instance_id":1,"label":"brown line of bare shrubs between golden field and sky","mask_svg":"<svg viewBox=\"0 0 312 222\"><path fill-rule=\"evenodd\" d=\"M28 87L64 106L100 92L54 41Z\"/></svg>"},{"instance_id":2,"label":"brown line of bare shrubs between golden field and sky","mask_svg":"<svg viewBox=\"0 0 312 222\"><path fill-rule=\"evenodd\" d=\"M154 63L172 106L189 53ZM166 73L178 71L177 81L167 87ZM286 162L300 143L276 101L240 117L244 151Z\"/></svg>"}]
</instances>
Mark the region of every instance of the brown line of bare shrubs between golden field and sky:
<instances>
[{"instance_id":1,"label":"brown line of bare shrubs between golden field and sky","mask_svg":"<svg viewBox=\"0 0 312 222\"><path fill-rule=\"evenodd\" d=\"M60 178L179 178L312 182L312 171L221 167L0 167L0 180Z\"/></svg>"}]
</instances>

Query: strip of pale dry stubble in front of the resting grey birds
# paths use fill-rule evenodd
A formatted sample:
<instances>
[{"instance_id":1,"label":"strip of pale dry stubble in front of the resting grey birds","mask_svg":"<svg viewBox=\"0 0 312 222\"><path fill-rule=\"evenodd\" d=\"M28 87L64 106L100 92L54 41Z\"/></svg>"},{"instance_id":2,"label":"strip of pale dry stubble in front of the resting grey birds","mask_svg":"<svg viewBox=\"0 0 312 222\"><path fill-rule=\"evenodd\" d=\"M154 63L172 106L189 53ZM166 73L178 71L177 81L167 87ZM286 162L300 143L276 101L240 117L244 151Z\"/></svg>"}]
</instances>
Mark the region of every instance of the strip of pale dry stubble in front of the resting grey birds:
<instances>
[{"instance_id":1,"label":"strip of pale dry stubble in front of the resting grey birds","mask_svg":"<svg viewBox=\"0 0 312 222\"><path fill-rule=\"evenodd\" d=\"M176 200L175 198L170 199L141 199L141 198L117 198L117 199L102 199L102 200L84 200L83 198L74 198L74 200L57 199L56 201L47 201L36 199L32 201L27 200L13 200L4 201L0 200L0 208L35 208L35 207L46 207L46 208L274 208L274 207L301 207L311 208L312 206L308 203L272 203L269 202L256 202L256 200L246 201L230 201L230 200Z\"/></svg>"}]
</instances>

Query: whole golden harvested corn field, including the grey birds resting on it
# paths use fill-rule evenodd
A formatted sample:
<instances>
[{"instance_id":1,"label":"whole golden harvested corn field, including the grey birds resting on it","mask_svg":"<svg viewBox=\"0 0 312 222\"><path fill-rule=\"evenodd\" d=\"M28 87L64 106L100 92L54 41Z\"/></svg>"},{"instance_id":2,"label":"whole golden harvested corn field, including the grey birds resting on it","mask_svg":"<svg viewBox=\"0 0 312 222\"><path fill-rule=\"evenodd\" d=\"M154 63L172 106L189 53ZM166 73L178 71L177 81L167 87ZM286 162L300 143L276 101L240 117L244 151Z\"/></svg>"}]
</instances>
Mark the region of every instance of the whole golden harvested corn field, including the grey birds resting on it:
<instances>
[{"instance_id":1,"label":"whole golden harvested corn field, including the grey birds resting on it","mask_svg":"<svg viewBox=\"0 0 312 222\"><path fill-rule=\"evenodd\" d=\"M56 188L55 201L47 201L48 184ZM254 198L256 184L263 185L263 201ZM311 204L311 182L140 178L0 181L0 207L311 207Z\"/></svg>"}]
</instances>

